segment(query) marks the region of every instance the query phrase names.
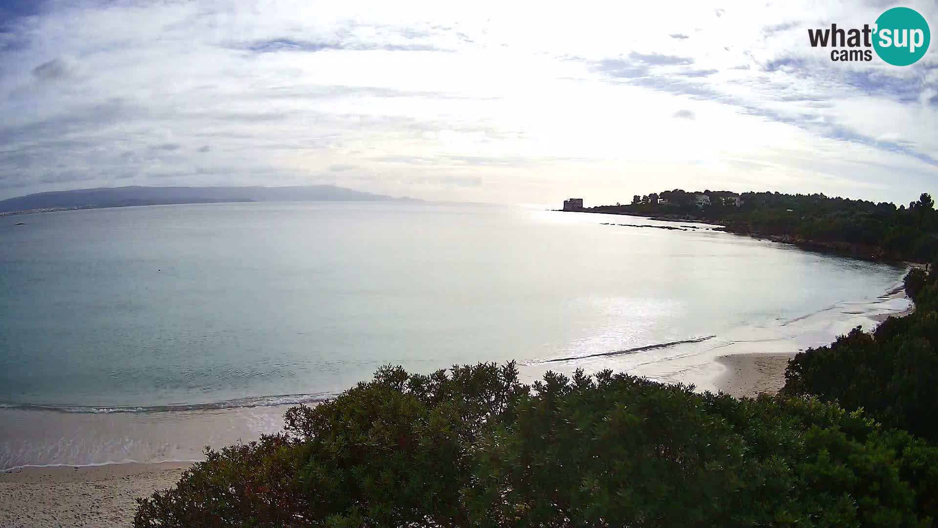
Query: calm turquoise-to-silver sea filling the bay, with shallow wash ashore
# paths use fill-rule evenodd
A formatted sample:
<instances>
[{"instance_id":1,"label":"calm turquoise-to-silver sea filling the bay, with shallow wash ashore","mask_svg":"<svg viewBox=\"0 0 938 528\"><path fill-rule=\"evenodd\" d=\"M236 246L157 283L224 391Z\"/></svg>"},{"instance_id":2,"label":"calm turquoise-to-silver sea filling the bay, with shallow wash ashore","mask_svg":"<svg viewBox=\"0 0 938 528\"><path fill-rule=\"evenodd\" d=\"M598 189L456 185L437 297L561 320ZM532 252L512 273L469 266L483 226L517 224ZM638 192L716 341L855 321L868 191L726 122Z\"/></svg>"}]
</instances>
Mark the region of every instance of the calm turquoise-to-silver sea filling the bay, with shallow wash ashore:
<instances>
[{"instance_id":1,"label":"calm turquoise-to-silver sea filling the bay, with shallow wash ashore","mask_svg":"<svg viewBox=\"0 0 938 528\"><path fill-rule=\"evenodd\" d=\"M396 201L2 217L0 470L199 460L381 365L717 390L728 350L821 346L909 306L904 266L715 227Z\"/></svg>"}]
</instances>

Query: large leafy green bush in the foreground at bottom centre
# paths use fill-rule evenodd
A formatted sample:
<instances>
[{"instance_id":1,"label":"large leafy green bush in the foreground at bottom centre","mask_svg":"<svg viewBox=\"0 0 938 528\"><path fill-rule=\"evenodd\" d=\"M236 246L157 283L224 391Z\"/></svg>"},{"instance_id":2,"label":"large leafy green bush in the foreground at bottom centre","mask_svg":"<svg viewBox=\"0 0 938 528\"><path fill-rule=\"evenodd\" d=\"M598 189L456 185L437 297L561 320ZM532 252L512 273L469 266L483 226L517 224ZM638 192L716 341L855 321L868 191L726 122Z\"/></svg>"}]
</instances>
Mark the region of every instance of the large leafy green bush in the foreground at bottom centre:
<instances>
[{"instance_id":1,"label":"large leafy green bush in the foreground at bottom centre","mask_svg":"<svg viewBox=\"0 0 938 528\"><path fill-rule=\"evenodd\" d=\"M928 526L936 471L935 448L816 399L385 367L208 451L134 525Z\"/></svg>"}]
</instances>

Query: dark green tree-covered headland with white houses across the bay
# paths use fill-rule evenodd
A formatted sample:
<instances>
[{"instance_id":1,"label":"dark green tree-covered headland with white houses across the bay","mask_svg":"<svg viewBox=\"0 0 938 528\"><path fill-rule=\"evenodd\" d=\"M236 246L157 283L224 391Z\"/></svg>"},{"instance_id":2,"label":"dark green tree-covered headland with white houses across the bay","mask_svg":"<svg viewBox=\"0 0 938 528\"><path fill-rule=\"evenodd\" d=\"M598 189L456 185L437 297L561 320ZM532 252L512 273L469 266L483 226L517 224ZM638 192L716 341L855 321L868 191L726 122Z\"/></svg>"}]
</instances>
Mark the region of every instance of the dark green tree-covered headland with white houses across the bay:
<instances>
[{"instance_id":1,"label":"dark green tree-covered headland with white houses across the bay","mask_svg":"<svg viewBox=\"0 0 938 528\"><path fill-rule=\"evenodd\" d=\"M710 205L695 205L698 194L706 194ZM742 200L739 207L734 202L736 196ZM897 208L891 203L824 194L687 193L675 189L636 195L626 206L589 210L704 220L725 225L733 233L772 237L855 256L930 262L938 250L938 214L930 194L922 194L908 208Z\"/></svg>"}]
</instances>

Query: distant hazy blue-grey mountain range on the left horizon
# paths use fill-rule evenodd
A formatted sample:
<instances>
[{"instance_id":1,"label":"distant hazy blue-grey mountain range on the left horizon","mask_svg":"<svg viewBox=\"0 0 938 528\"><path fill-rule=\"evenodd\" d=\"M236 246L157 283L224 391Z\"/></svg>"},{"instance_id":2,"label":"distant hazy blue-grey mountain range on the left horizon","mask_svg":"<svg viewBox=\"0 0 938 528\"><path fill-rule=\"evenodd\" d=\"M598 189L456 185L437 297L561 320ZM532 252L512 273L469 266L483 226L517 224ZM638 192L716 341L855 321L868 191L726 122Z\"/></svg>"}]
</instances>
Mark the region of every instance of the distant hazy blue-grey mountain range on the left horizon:
<instances>
[{"instance_id":1,"label":"distant hazy blue-grey mountain range on the left horizon","mask_svg":"<svg viewBox=\"0 0 938 528\"><path fill-rule=\"evenodd\" d=\"M415 200L362 193L335 185L305 187L99 187L27 194L0 201L0 212L40 209L92 209L219 202Z\"/></svg>"}]
</instances>

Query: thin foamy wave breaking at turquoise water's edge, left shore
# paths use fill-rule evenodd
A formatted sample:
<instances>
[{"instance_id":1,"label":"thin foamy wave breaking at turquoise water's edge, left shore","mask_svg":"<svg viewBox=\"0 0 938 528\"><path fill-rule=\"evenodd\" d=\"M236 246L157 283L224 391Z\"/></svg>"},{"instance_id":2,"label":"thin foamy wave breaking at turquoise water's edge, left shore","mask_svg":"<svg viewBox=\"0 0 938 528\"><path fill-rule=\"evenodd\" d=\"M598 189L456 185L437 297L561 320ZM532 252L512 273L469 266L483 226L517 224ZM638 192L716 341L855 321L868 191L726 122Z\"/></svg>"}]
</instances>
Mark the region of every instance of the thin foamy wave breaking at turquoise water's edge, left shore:
<instances>
[{"instance_id":1,"label":"thin foamy wave breaking at turquoise water's edge, left shore","mask_svg":"<svg viewBox=\"0 0 938 528\"><path fill-rule=\"evenodd\" d=\"M280 395L250 396L212 403L179 403L170 405L144 406L98 406L98 405L43 405L34 403L4 403L0 409L24 411L77 412L89 414L107 414L111 412L182 412L182 411L219 411L224 409L243 409L251 407L276 407L279 405L299 405L304 403L322 403L338 394L318 395Z\"/></svg>"}]
</instances>

